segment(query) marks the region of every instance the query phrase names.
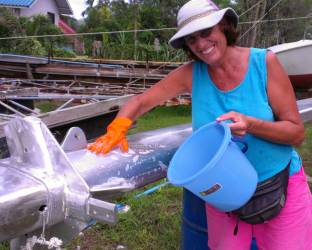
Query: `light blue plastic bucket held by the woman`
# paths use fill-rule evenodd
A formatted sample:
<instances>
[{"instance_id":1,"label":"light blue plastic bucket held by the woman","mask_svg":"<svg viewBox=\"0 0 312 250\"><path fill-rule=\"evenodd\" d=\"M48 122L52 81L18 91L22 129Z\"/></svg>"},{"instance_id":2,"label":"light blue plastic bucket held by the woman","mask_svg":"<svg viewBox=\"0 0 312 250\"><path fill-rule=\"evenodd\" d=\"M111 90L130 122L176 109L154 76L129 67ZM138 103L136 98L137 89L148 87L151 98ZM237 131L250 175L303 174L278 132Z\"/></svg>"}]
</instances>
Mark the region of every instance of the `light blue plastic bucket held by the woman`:
<instances>
[{"instance_id":1,"label":"light blue plastic bucket held by the woman","mask_svg":"<svg viewBox=\"0 0 312 250\"><path fill-rule=\"evenodd\" d=\"M174 154L167 176L171 184L183 186L224 212L244 205L258 181L223 122L209 123L188 137Z\"/></svg>"}]
</instances>

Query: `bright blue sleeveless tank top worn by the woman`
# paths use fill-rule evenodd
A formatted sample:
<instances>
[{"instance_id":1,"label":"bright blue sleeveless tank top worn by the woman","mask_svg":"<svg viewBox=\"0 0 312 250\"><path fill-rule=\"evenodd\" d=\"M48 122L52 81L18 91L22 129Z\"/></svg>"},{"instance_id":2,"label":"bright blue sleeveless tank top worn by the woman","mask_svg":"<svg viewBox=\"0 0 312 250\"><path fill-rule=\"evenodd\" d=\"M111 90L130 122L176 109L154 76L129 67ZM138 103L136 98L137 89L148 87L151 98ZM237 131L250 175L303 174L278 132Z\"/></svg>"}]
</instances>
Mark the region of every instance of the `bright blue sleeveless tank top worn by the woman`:
<instances>
[{"instance_id":1,"label":"bright blue sleeveless tank top worn by the woman","mask_svg":"<svg viewBox=\"0 0 312 250\"><path fill-rule=\"evenodd\" d=\"M236 111L265 121L274 121L274 114L267 96L265 49L251 48L244 80L229 91L222 91L216 87L209 76L207 64L202 61L193 63L193 131L215 121L218 116L229 111ZM301 159L291 145L273 143L251 134L246 134L244 141L248 144L246 156L255 167L259 181L266 180L280 172L290 160L290 175L299 171Z\"/></svg>"}]
</instances>

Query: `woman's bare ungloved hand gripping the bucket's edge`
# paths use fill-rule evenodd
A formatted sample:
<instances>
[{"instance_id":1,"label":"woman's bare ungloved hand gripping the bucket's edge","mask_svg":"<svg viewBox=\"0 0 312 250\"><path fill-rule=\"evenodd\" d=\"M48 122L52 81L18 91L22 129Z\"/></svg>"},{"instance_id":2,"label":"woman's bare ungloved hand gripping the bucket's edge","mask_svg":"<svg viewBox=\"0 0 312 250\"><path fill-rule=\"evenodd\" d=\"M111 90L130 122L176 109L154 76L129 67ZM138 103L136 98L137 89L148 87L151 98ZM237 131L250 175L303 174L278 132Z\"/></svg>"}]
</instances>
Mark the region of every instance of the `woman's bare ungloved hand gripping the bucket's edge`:
<instances>
[{"instance_id":1,"label":"woman's bare ungloved hand gripping the bucket's edge","mask_svg":"<svg viewBox=\"0 0 312 250\"><path fill-rule=\"evenodd\" d=\"M225 113L219 116L216 120L218 122L225 120L232 121L233 123L229 123L227 125L230 127L232 134L236 136L244 136L251 126L248 116L234 111Z\"/></svg>"}]
</instances>

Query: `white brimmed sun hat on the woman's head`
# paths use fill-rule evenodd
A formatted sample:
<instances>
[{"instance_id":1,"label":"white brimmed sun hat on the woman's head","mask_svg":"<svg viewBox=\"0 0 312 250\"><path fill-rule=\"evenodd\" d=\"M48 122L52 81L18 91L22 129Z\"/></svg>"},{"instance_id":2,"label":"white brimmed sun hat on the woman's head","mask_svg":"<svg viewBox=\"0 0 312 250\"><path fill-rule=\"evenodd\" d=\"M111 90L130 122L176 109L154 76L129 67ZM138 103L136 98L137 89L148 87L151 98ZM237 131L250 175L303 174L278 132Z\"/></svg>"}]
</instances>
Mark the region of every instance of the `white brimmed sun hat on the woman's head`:
<instances>
[{"instance_id":1,"label":"white brimmed sun hat on the woman's head","mask_svg":"<svg viewBox=\"0 0 312 250\"><path fill-rule=\"evenodd\" d=\"M169 40L169 44L178 49L184 45L185 36L218 24L223 16L229 16L237 27L238 15L232 8L219 9L210 0L191 0L184 4L178 12L178 31Z\"/></svg>"}]
</instances>

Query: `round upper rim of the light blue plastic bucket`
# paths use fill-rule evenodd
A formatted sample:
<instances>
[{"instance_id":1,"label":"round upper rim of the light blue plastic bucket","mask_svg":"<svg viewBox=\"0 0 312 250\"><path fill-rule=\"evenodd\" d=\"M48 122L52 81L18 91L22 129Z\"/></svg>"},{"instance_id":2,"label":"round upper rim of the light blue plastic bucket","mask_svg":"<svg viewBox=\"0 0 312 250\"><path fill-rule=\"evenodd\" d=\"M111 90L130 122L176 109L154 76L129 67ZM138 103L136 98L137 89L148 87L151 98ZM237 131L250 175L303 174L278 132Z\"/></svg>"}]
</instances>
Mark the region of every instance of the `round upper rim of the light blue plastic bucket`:
<instances>
[{"instance_id":1,"label":"round upper rim of the light blue plastic bucket","mask_svg":"<svg viewBox=\"0 0 312 250\"><path fill-rule=\"evenodd\" d=\"M171 162L173 162L175 160L175 158L177 158L177 153L178 151L180 150L181 146L188 143L191 138L200 133L202 130L205 130L207 127L210 127L210 126L214 126L214 125L221 125L223 130L224 130L224 137L223 137L223 141L219 147L219 149L217 150L216 154L211 158L211 160L201 169L199 170L197 173L183 179L183 180L175 180L175 181L172 181L172 179L169 177L170 176L170 165L171 165ZM225 122L217 122L217 121L214 121L214 122L210 122L208 124L205 124L204 126L202 126L201 128L199 128L198 130L196 130L191 136L189 136L184 142L183 144L178 148L178 150L176 151L176 153L173 155L170 163L169 163L169 167L168 167L168 172L167 172L167 178L169 180L169 182L173 185L176 185L176 186L183 186L183 185L187 185L188 183L190 183L191 181L193 181L195 178L197 178L199 175L201 175L204 171L206 171L206 169L208 167L210 167L211 165L215 165L216 162L223 156L224 152L226 151L227 149L227 145L230 143L231 141L231 130L229 128L229 126L225 123Z\"/></svg>"}]
</instances>

